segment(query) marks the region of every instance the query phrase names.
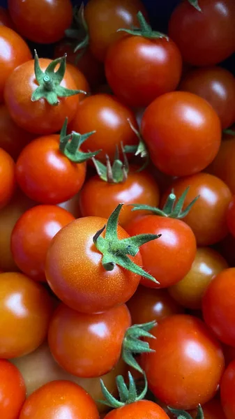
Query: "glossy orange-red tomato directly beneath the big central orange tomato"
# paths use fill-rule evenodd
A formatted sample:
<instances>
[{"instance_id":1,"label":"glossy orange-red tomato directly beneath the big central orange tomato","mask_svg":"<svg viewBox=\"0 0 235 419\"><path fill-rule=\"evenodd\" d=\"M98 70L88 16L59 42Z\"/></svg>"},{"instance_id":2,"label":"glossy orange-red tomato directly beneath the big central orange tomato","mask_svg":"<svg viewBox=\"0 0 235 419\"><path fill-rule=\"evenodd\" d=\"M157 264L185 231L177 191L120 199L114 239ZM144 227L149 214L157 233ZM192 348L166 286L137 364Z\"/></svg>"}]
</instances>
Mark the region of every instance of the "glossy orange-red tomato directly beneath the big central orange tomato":
<instances>
[{"instance_id":1,"label":"glossy orange-red tomato directly beneath the big central orange tomato","mask_svg":"<svg viewBox=\"0 0 235 419\"><path fill-rule=\"evenodd\" d=\"M82 314L60 304L48 331L54 359L78 377L98 377L118 362L131 318L126 304L101 314Z\"/></svg>"}]
</instances>

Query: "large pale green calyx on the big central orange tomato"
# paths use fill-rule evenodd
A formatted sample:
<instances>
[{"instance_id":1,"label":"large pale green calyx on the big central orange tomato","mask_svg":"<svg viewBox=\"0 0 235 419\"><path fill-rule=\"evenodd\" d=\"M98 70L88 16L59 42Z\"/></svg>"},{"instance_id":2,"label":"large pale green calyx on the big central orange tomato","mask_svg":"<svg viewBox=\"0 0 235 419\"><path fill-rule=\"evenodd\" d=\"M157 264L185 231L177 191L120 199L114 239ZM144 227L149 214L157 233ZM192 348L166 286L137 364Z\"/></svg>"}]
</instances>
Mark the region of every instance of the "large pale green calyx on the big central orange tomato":
<instances>
[{"instance_id":1,"label":"large pale green calyx on the big central orange tomato","mask_svg":"<svg viewBox=\"0 0 235 419\"><path fill-rule=\"evenodd\" d=\"M103 254L102 265L105 270L114 270L115 265L124 267L126 270L141 275L150 281L159 284L150 274L145 272L142 267L133 262L129 256L136 256L139 247L142 244L156 240L160 235L140 234L126 239L119 240L117 236L118 219L123 204L119 204L107 220L107 226L104 226L93 237L93 242L100 253ZM105 230L106 228L106 230ZM105 230L105 237L101 234Z\"/></svg>"}]
</instances>

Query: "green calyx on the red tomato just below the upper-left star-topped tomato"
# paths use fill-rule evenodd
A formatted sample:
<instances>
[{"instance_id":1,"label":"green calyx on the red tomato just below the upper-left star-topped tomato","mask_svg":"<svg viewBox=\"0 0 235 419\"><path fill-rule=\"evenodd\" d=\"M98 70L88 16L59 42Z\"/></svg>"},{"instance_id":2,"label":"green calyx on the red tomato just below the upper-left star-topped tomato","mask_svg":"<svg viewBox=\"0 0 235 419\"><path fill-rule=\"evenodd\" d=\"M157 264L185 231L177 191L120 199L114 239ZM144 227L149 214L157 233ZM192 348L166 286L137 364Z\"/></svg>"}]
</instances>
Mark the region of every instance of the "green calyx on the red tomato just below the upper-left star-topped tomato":
<instances>
[{"instance_id":1,"label":"green calyx on the red tomato just below the upper-left star-topped tomato","mask_svg":"<svg viewBox=\"0 0 235 419\"><path fill-rule=\"evenodd\" d=\"M96 154L100 152L93 153L84 153L80 150L81 145L84 141L87 140L91 135L96 133L96 131L91 131L90 133L86 134L79 134L73 131L67 135L67 125L68 125L68 118L66 118L63 127L61 129L60 141L59 141L59 149L62 154L64 154L70 161L73 163L84 163L84 161L88 159L92 159Z\"/></svg>"}]
</instances>

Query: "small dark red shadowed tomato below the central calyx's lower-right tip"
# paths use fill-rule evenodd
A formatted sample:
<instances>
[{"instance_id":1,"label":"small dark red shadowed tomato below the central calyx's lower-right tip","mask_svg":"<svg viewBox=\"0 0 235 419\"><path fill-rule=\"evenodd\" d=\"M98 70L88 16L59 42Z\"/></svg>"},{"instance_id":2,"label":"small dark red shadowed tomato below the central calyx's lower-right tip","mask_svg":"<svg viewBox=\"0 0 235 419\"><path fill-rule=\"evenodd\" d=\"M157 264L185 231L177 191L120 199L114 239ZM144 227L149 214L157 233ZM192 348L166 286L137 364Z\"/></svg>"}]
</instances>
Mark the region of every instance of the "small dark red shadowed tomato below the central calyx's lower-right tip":
<instances>
[{"instance_id":1,"label":"small dark red shadowed tomato below the central calyx's lower-right tip","mask_svg":"<svg viewBox=\"0 0 235 419\"><path fill-rule=\"evenodd\" d=\"M139 286L127 303L132 324L160 321L172 314L183 313L183 307L173 300L165 290L153 290Z\"/></svg>"}]
</instances>

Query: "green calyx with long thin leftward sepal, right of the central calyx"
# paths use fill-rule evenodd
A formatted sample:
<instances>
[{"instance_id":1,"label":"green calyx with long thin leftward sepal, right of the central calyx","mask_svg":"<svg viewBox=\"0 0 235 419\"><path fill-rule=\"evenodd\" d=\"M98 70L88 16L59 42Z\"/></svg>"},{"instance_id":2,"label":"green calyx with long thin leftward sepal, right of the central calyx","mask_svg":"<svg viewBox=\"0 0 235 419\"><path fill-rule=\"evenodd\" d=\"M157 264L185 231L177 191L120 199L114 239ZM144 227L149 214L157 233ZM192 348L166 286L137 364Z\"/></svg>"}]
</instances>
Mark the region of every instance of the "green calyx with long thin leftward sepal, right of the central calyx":
<instances>
[{"instance_id":1,"label":"green calyx with long thin leftward sepal, right of the central calyx","mask_svg":"<svg viewBox=\"0 0 235 419\"><path fill-rule=\"evenodd\" d=\"M190 186L188 186L187 189L182 193L179 200L177 200L174 191L167 196L166 203L162 210L156 207L150 207L149 205L139 205L139 204L133 204L132 205L132 211L137 210L146 210L151 211L153 214L160 215L160 216L167 216L169 218L174 219L183 219L188 213L190 212L192 206L195 204L195 202L198 200L199 196L196 196L194 200L190 204L187 205L187 207L183 210L183 204L186 198L186 195L190 189Z\"/></svg>"}]
</instances>

